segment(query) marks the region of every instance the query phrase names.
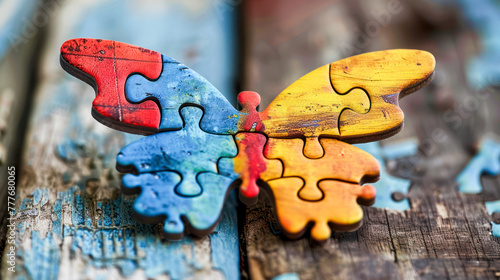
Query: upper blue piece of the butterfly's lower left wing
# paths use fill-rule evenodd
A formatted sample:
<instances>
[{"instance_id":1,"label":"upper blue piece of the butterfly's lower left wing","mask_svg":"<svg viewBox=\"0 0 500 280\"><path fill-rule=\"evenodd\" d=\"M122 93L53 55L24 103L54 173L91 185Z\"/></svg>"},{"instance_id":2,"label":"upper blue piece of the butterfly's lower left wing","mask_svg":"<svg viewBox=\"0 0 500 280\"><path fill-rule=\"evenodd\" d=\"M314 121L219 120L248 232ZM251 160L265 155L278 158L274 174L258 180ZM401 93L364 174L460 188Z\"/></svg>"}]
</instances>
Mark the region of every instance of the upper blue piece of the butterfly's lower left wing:
<instances>
[{"instance_id":1,"label":"upper blue piece of the butterfly's lower left wing","mask_svg":"<svg viewBox=\"0 0 500 280\"><path fill-rule=\"evenodd\" d=\"M118 170L130 172L135 169L138 173L175 171L182 176L176 193L200 195L202 189L196 175L205 171L216 173L219 158L237 154L232 136L209 134L200 129L202 114L200 108L182 108L183 130L150 135L129 144L117 156Z\"/></svg>"}]
</instances>

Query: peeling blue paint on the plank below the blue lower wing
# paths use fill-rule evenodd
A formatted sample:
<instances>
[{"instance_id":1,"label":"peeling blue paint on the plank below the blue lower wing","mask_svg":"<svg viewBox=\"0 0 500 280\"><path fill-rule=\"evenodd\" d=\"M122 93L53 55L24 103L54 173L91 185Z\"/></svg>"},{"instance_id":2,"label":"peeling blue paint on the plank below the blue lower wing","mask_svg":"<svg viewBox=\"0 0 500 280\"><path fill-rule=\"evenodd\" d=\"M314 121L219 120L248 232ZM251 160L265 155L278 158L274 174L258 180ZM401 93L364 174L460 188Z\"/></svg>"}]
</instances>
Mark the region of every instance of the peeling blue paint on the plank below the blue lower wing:
<instances>
[{"instance_id":1,"label":"peeling blue paint on the plank below the blue lower wing","mask_svg":"<svg viewBox=\"0 0 500 280\"><path fill-rule=\"evenodd\" d=\"M50 206L49 190L37 189L33 197L25 199L19 208L19 234L24 234L32 219L36 219L42 206ZM93 204L101 205L102 215L95 225L87 224L86 213L93 217ZM182 279L192 276L197 269L206 269L196 262L195 243L191 237L185 237L179 242L169 242L161 239L158 226L135 223L130 216L132 199L118 195L112 200L96 200L82 195L81 190L74 186L65 192L57 193L57 199L52 204L52 231L42 236L37 230L31 232L30 250L18 246L18 255L23 259L16 279L54 279L59 273L61 262L60 243L62 239L71 236L71 254L82 254L87 268L117 267L124 277L131 276L137 269L143 269L147 277L157 277L168 274L172 279ZM24 205L24 206L23 206ZM31 208L33 205L34 208ZM103 205L107 205L103 207ZM235 199L229 199L222 214L219 226L209 235L211 240L211 257L214 268L220 269L227 279L239 279L238 232L236 223ZM37 211L33 211L38 209ZM63 224L63 209L70 210L73 220ZM66 211L67 211L66 210ZM27 217L31 217L26 219ZM112 218L114 217L114 218ZM19 217L18 217L19 218ZM118 218L118 219L115 219ZM48 220L47 220L48 221ZM190 256L183 247L190 248ZM87 269L85 269L87 270Z\"/></svg>"}]
</instances>

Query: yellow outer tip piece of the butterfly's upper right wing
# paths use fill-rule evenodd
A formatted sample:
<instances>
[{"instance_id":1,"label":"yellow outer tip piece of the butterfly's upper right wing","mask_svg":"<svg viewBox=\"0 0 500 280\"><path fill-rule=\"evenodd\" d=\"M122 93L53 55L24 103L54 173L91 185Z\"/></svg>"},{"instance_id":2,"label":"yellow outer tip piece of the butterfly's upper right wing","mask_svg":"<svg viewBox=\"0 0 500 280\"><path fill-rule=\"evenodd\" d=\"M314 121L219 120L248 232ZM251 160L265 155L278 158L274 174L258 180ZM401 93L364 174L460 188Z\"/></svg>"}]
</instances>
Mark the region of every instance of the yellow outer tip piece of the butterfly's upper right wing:
<instances>
[{"instance_id":1,"label":"yellow outer tip piece of the butterfly's upper right wing","mask_svg":"<svg viewBox=\"0 0 500 280\"><path fill-rule=\"evenodd\" d=\"M434 56L419 50L387 50L360 54L330 64L330 77L337 92L362 88L370 96L370 111L345 110L339 118L340 140L362 143L398 133L403 111L398 100L429 83Z\"/></svg>"}]
</instances>

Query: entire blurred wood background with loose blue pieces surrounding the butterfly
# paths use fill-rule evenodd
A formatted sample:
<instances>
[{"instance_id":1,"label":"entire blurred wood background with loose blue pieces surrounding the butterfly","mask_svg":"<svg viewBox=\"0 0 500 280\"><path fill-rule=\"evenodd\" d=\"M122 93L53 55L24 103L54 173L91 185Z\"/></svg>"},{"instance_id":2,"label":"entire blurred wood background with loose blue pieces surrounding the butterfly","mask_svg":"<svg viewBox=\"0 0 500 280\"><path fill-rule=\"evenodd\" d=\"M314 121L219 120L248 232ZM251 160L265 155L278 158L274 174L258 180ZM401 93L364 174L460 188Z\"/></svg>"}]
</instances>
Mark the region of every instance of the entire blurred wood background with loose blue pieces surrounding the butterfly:
<instances>
[{"instance_id":1,"label":"entire blurred wood background with loose blue pieces surrounding the butterfly","mask_svg":"<svg viewBox=\"0 0 500 280\"><path fill-rule=\"evenodd\" d=\"M0 0L1 275L495 279L499 28L498 0ZM306 73L364 52L422 49L437 67L431 84L401 100L405 129L362 146L384 170L357 232L326 245L286 240L265 199L246 207L233 198L210 236L167 242L157 225L134 221L133 198L120 194L114 158L139 136L93 120L93 89L59 65L61 44L79 37L171 56L234 106L240 91L259 92L261 110Z\"/></svg>"}]
</instances>

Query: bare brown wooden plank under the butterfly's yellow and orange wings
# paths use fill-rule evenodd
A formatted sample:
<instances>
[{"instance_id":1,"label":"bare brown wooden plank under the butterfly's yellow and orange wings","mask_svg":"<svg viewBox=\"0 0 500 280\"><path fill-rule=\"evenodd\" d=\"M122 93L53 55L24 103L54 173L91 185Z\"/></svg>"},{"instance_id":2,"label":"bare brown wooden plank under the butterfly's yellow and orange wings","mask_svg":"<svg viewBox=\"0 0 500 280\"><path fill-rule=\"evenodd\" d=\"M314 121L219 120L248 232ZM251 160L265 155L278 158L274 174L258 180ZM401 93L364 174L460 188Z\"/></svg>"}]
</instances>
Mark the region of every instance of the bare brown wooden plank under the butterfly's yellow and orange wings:
<instances>
[{"instance_id":1,"label":"bare brown wooden plank under the butterfly's yellow and orange wings","mask_svg":"<svg viewBox=\"0 0 500 280\"><path fill-rule=\"evenodd\" d=\"M386 11L387 3L245 4L249 32L245 89L259 91L263 104L273 98L273 89L285 88L313 67L310 64L345 54L345 44L354 46L347 55L420 48L433 53L437 61L437 80L400 102L405 128L394 141L417 137L418 153L381 162L390 175L411 180L408 210L363 208L358 231L334 233L326 244L315 245L306 238L283 239L270 200L260 199L260 204L248 207L244 222L245 264L251 279L496 279L500 275L500 240L491 235L492 218L485 207L500 198L498 176L482 177L481 194L463 194L456 182L477 151L478 140L487 131L498 133L494 109L498 91L489 88L489 94L476 95L464 81L463 62L470 55L468 44L473 43L441 6L433 6L434 11L401 1L401 11L391 14L378 34L367 37L364 46L356 45L361 40L356 30L376 20L374 14ZM295 12L297 7L300 13ZM481 93L488 98L479 100ZM475 109L464 106L464 100L472 99L478 101ZM394 144L390 139L378 145L391 150Z\"/></svg>"}]
</instances>

